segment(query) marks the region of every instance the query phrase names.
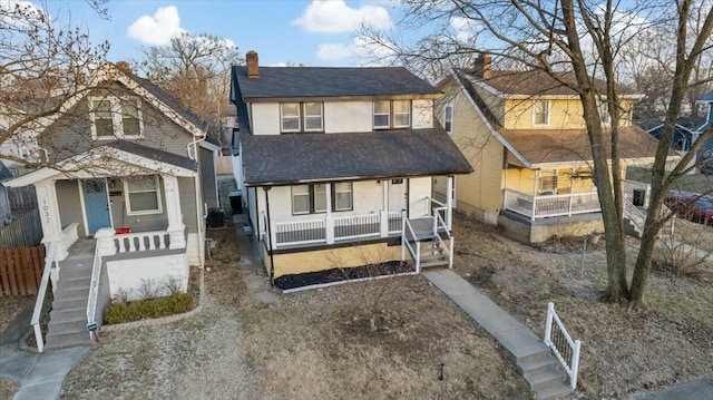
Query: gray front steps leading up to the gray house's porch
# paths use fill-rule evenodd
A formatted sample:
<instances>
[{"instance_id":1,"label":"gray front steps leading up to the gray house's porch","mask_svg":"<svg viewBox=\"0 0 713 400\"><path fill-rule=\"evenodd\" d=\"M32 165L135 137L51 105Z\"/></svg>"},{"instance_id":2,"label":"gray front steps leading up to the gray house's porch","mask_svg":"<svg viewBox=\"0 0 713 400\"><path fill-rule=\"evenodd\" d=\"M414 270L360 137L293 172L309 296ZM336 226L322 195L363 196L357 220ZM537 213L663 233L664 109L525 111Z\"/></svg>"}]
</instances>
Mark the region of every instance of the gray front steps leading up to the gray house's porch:
<instances>
[{"instance_id":1,"label":"gray front steps leading up to the gray house's porch","mask_svg":"<svg viewBox=\"0 0 713 400\"><path fill-rule=\"evenodd\" d=\"M91 345L87 330L87 299L92 262L88 257L68 257L60 262L59 284L45 338L46 350Z\"/></svg>"}]
</instances>

